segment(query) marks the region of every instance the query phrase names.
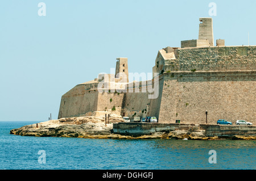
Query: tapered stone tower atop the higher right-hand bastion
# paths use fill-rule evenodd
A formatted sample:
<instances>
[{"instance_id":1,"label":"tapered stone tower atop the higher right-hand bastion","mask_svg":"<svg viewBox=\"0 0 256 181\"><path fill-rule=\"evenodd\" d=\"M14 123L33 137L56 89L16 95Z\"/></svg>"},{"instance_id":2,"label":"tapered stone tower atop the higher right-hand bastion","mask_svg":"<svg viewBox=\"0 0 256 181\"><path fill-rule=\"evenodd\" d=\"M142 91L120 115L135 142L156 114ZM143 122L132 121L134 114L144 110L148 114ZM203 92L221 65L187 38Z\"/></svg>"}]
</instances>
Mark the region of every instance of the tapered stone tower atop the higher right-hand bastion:
<instances>
[{"instance_id":1,"label":"tapered stone tower atop the higher right-hand bastion","mask_svg":"<svg viewBox=\"0 0 256 181\"><path fill-rule=\"evenodd\" d=\"M213 45L213 24L212 18L200 18L199 19L199 40L208 40L210 46Z\"/></svg>"}]
</instances>

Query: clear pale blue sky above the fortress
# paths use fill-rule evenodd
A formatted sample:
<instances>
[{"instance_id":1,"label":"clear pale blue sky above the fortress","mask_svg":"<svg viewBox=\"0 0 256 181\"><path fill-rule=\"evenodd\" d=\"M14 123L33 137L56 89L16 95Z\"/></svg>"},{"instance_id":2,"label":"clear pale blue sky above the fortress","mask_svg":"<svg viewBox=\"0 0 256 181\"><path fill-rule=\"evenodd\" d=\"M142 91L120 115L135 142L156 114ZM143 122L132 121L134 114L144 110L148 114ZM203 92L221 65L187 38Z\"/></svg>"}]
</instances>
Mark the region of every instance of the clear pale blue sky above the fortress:
<instances>
[{"instance_id":1,"label":"clear pale blue sky above the fortress","mask_svg":"<svg viewBox=\"0 0 256 181\"><path fill-rule=\"evenodd\" d=\"M46 3L46 16L38 3ZM214 39L256 45L256 1L49 1L0 3L0 121L57 119L61 95L115 58L150 73L159 49L198 38L199 18L217 5Z\"/></svg>"}]
</instances>

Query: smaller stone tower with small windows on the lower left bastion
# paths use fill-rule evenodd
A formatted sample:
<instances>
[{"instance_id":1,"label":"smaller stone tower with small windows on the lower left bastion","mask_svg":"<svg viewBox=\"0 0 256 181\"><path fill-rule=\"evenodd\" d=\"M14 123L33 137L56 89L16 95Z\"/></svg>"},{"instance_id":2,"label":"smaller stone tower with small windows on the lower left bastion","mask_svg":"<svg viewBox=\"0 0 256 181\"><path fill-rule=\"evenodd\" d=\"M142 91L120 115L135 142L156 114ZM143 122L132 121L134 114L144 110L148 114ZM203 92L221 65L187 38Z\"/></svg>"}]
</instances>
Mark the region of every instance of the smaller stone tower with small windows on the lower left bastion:
<instances>
[{"instance_id":1,"label":"smaller stone tower with small windows on the lower left bastion","mask_svg":"<svg viewBox=\"0 0 256 181\"><path fill-rule=\"evenodd\" d=\"M129 82L128 58L117 58L115 78L121 78L121 82Z\"/></svg>"}]
</instances>

